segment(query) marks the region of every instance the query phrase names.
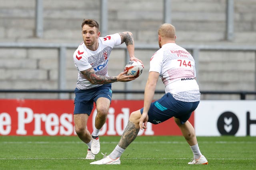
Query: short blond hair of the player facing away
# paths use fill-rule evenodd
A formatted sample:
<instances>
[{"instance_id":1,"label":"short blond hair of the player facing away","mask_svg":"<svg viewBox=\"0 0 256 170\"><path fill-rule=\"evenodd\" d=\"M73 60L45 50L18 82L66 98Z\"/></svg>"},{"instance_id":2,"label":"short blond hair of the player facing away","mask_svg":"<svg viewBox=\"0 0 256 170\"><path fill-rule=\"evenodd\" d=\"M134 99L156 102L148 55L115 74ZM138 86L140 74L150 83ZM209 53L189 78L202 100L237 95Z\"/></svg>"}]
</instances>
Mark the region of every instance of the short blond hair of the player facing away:
<instances>
[{"instance_id":1,"label":"short blond hair of the player facing away","mask_svg":"<svg viewBox=\"0 0 256 170\"><path fill-rule=\"evenodd\" d=\"M158 28L158 35L164 38L175 39L175 27L170 23L163 23Z\"/></svg>"}]
</instances>

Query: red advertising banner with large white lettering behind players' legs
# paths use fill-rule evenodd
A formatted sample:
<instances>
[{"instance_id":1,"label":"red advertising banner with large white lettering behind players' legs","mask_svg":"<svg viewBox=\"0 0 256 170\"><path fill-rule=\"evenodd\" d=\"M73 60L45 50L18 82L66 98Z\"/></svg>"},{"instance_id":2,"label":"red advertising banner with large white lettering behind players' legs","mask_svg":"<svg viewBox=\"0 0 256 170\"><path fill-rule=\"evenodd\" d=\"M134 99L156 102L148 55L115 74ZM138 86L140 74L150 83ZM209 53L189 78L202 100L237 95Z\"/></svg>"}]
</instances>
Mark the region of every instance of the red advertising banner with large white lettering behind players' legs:
<instances>
[{"instance_id":1,"label":"red advertising banner with large white lettering behind players' legs","mask_svg":"<svg viewBox=\"0 0 256 170\"><path fill-rule=\"evenodd\" d=\"M76 135L73 121L73 100L0 100L0 135ZM143 106L143 100L112 100L108 118L100 135L122 135L130 113ZM94 107L87 123L92 132ZM194 125L194 114L189 119ZM138 135L182 135L173 119L158 125L147 124L148 129Z\"/></svg>"}]
</instances>

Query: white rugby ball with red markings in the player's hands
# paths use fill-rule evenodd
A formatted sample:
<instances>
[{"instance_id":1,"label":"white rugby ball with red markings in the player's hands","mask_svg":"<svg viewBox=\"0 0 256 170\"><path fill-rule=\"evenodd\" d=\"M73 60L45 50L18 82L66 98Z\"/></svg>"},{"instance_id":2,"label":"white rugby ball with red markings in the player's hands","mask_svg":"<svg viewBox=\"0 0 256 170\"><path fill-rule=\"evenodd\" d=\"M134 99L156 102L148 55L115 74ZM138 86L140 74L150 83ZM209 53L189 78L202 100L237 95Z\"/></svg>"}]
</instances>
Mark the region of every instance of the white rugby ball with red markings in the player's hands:
<instances>
[{"instance_id":1,"label":"white rugby ball with red markings in the player's hands","mask_svg":"<svg viewBox=\"0 0 256 170\"><path fill-rule=\"evenodd\" d=\"M124 67L124 71L126 70L126 74L128 76L134 76L135 78L137 78L142 73L143 66L142 63L140 63L139 61L133 60L126 64L126 66Z\"/></svg>"}]
</instances>

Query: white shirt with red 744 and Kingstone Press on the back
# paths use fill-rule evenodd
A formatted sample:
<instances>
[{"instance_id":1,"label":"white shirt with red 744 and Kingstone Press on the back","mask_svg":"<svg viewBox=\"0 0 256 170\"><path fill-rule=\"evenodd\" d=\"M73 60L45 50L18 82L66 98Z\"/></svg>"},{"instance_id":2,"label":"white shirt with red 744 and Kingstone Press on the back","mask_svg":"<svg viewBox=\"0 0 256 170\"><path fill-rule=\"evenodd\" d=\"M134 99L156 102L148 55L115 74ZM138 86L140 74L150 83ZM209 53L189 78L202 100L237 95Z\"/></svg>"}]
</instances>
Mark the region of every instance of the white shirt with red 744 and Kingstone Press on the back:
<instances>
[{"instance_id":1,"label":"white shirt with red 744 and Kingstone Press on the back","mask_svg":"<svg viewBox=\"0 0 256 170\"><path fill-rule=\"evenodd\" d=\"M195 80L195 61L186 49L167 43L150 59L150 70L160 73L165 92L182 102L200 101L200 92Z\"/></svg>"}]
</instances>

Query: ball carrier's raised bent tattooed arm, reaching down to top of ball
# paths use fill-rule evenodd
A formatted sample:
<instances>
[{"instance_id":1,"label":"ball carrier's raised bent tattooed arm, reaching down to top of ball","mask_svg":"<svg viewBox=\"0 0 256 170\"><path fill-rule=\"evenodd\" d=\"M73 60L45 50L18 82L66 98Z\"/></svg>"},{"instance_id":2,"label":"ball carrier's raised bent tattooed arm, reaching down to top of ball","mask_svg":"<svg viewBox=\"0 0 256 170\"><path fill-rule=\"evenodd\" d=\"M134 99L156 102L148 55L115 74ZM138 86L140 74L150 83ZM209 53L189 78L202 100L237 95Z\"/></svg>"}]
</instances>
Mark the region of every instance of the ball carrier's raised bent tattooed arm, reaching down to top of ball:
<instances>
[{"instance_id":1,"label":"ball carrier's raised bent tattooed arm, reaching down to top of ball","mask_svg":"<svg viewBox=\"0 0 256 170\"><path fill-rule=\"evenodd\" d=\"M134 39L133 39L132 33L127 31L127 32L119 33L119 35L121 37L121 44L124 43L124 42L126 44L128 53L130 55L130 61L137 60L137 61L140 61L140 63L142 63L142 61L140 59L137 59L134 56Z\"/></svg>"}]
</instances>

